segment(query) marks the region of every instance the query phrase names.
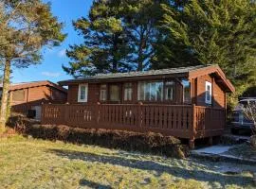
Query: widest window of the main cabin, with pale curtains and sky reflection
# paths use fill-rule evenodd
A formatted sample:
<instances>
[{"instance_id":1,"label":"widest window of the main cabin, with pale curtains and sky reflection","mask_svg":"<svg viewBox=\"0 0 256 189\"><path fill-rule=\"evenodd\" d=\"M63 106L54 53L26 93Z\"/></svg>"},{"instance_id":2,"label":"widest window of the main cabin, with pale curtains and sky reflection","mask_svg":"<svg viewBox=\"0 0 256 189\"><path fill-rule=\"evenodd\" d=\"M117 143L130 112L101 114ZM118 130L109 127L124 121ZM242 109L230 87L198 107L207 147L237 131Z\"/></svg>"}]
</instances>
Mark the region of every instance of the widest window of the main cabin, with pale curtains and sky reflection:
<instances>
[{"instance_id":1,"label":"widest window of the main cabin, with pale curtains and sky reflection","mask_svg":"<svg viewBox=\"0 0 256 189\"><path fill-rule=\"evenodd\" d=\"M163 100L163 82L138 82L138 100L161 101Z\"/></svg>"}]
</instances>

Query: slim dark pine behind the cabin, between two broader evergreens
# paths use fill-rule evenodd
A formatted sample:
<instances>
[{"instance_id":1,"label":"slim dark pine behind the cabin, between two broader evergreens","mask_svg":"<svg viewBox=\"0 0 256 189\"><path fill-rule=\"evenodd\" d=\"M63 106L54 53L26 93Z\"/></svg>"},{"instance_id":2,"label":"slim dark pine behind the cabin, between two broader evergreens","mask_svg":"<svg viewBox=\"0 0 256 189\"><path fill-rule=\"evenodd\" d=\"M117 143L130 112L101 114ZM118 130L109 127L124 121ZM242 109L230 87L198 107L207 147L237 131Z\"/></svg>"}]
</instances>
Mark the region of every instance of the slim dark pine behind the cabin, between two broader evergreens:
<instances>
[{"instance_id":1,"label":"slim dark pine behind the cabin, between two broader evergreens","mask_svg":"<svg viewBox=\"0 0 256 189\"><path fill-rule=\"evenodd\" d=\"M142 71L151 67L155 45L161 38L158 22L162 17L161 4L167 0L120 0L124 29L132 49L129 61L134 69Z\"/></svg>"}]
</instances>

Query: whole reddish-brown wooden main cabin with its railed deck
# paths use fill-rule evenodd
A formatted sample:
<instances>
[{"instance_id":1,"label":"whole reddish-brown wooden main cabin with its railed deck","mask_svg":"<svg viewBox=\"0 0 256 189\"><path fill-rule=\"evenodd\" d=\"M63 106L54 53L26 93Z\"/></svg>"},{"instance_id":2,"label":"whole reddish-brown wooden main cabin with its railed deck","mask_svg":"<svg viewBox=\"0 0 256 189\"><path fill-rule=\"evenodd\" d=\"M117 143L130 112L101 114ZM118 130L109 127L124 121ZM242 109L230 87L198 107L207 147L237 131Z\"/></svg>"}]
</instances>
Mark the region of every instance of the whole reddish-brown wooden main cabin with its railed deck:
<instances>
[{"instance_id":1,"label":"whole reddish-brown wooden main cabin with its railed deck","mask_svg":"<svg viewBox=\"0 0 256 189\"><path fill-rule=\"evenodd\" d=\"M221 135L227 93L234 87L217 65L101 74L60 82L66 105L46 105L43 123L155 131L194 139Z\"/></svg>"}]
</instances>

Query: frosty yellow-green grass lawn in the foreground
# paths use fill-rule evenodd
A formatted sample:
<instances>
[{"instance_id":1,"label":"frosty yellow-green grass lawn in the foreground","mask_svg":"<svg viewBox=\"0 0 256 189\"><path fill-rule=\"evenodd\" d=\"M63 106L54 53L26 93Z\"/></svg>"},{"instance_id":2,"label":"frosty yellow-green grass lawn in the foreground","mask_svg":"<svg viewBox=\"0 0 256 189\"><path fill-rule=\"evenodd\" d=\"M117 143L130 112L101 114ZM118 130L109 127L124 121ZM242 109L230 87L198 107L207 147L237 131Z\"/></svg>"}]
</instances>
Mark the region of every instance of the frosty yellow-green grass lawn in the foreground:
<instances>
[{"instance_id":1,"label":"frosty yellow-green grass lawn in the foreground","mask_svg":"<svg viewBox=\"0 0 256 189\"><path fill-rule=\"evenodd\" d=\"M229 168L238 174L225 173ZM0 188L253 188L256 165L176 160L14 136L0 139Z\"/></svg>"}]
</instances>

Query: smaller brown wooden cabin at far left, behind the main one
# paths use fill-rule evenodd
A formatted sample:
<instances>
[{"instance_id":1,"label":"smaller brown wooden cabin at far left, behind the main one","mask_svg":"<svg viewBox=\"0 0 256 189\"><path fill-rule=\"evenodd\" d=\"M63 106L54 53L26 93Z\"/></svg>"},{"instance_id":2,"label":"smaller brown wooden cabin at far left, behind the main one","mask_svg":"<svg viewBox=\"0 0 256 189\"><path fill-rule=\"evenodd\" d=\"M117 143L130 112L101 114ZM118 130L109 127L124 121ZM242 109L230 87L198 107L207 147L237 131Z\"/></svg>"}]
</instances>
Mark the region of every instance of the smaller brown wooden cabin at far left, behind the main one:
<instances>
[{"instance_id":1,"label":"smaller brown wooden cabin at far left, behind the main one","mask_svg":"<svg viewBox=\"0 0 256 189\"><path fill-rule=\"evenodd\" d=\"M32 110L36 119L41 119L42 103L64 104L66 99L67 90L47 80L15 83L9 87L11 111L27 114Z\"/></svg>"}]
</instances>

